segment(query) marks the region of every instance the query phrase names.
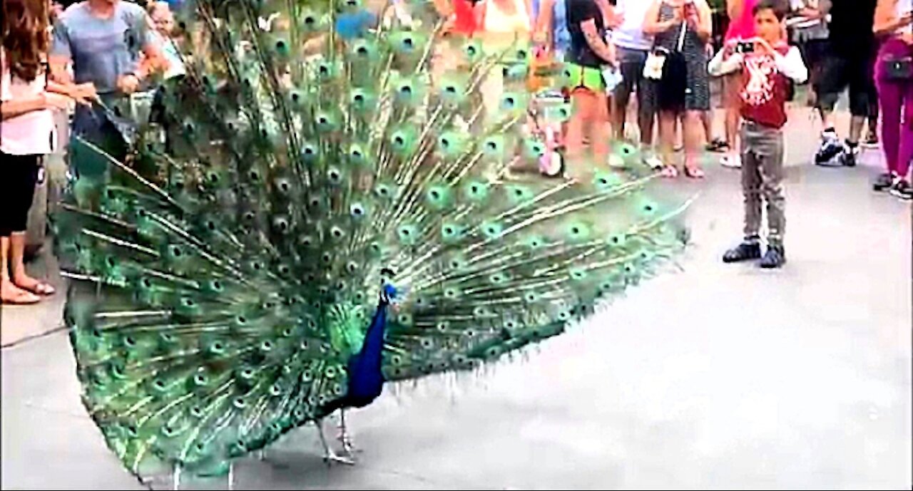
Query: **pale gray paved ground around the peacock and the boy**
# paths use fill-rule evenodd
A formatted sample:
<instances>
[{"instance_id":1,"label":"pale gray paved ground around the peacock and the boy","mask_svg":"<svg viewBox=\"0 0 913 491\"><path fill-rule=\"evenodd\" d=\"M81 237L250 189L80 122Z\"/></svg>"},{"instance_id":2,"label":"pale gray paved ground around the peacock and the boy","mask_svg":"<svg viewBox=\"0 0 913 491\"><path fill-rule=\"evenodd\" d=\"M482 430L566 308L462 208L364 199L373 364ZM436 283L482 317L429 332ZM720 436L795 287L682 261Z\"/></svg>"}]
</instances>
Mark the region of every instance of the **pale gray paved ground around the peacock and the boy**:
<instances>
[{"instance_id":1,"label":"pale gray paved ground around the peacock and the boy","mask_svg":"<svg viewBox=\"0 0 913 491\"><path fill-rule=\"evenodd\" d=\"M877 151L816 168L807 112L789 128L782 271L719 262L739 173L709 164L672 184L702 193L683 271L526 360L352 413L359 466L328 469L304 428L237 465L236 488L909 489L910 205L870 191ZM3 487L139 488L79 404L66 333L28 339L60 308L2 312Z\"/></svg>"}]
</instances>

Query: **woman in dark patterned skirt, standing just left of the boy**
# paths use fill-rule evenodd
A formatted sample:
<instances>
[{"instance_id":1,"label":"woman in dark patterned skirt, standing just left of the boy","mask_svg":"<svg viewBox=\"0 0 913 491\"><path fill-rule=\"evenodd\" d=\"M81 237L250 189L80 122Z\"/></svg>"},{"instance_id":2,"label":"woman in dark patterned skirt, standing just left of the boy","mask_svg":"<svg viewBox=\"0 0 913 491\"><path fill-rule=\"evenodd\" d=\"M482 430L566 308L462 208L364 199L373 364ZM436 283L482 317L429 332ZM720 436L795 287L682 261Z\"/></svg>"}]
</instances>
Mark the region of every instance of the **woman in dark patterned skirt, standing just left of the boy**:
<instances>
[{"instance_id":1,"label":"woman in dark patterned skirt, standing just left of the boy","mask_svg":"<svg viewBox=\"0 0 913 491\"><path fill-rule=\"evenodd\" d=\"M644 32L655 37L654 49L668 53L664 79L658 82L659 138L666 177L678 174L677 167L671 163L678 120L681 120L685 137L685 175L695 179L704 177L698 160L702 117L710 110L706 46L711 31L710 7L704 0L654 0L646 13ZM681 67L677 66L677 58L683 59ZM685 73L677 73L679 69ZM684 97L681 97L682 91Z\"/></svg>"}]
</instances>

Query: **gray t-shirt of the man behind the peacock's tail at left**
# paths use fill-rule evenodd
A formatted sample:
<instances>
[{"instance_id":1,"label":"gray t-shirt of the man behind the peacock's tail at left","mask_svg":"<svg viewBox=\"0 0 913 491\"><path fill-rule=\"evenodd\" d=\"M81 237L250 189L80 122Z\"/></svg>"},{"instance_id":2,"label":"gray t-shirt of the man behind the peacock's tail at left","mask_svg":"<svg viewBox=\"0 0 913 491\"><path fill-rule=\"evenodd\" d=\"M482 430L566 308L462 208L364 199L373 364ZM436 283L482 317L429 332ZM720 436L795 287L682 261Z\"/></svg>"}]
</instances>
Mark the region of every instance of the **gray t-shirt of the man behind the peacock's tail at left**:
<instances>
[{"instance_id":1,"label":"gray t-shirt of the man behind the peacock's tail at left","mask_svg":"<svg viewBox=\"0 0 913 491\"><path fill-rule=\"evenodd\" d=\"M140 5L123 0L110 18L93 16L86 2L70 5L54 26L51 55L73 61L76 83L93 82L99 94L117 91L117 80L139 66L152 30Z\"/></svg>"}]
</instances>

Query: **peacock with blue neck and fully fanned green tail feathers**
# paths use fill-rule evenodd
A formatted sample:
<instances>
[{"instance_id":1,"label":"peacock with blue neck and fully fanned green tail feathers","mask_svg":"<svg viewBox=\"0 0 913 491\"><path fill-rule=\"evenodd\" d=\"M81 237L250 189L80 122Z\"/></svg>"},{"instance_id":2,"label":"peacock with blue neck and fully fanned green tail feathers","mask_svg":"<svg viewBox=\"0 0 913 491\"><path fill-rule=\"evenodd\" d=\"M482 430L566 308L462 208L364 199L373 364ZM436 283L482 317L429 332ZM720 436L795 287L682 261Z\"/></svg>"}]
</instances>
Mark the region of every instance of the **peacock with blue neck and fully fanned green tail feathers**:
<instances>
[{"instance_id":1,"label":"peacock with blue neck and fully fanned green tail feathers","mask_svg":"<svg viewBox=\"0 0 913 491\"><path fill-rule=\"evenodd\" d=\"M53 217L64 317L82 402L133 475L226 475L308 423L352 462L331 414L559 335L687 244L687 202L651 197L633 147L622 169L517 172L543 151L526 40L362 1L186 3L163 118L133 121L123 161L72 143L105 169L73 162Z\"/></svg>"}]
</instances>

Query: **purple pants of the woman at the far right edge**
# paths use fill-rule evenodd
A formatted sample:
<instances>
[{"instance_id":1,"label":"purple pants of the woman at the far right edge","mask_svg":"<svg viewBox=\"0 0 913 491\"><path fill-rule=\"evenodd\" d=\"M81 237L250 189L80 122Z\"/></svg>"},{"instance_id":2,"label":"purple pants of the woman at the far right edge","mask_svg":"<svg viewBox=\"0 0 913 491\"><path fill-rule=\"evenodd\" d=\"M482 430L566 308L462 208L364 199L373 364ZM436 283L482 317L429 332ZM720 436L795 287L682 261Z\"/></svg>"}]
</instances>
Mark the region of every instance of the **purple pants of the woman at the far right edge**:
<instances>
[{"instance_id":1,"label":"purple pants of the woman at the far right edge","mask_svg":"<svg viewBox=\"0 0 913 491\"><path fill-rule=\"evenodd\" d=\"M891 80L883 73L887 56L913 56L913 47L900 39L888 39L878 52L875 83L881 105L881 145L887 171L907 177L913 159L913 80Z\"/></svg>"}]
</instances>

